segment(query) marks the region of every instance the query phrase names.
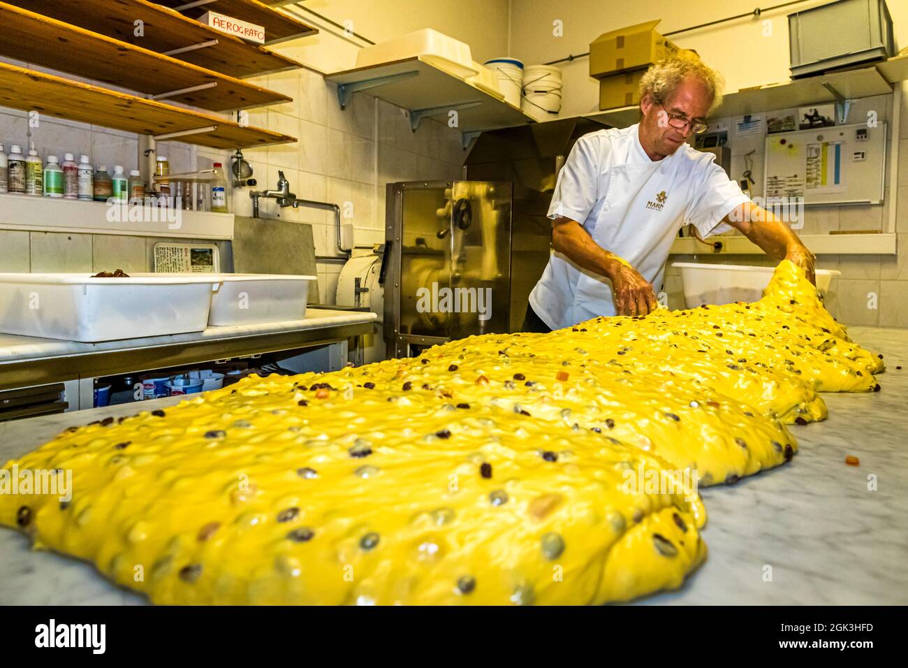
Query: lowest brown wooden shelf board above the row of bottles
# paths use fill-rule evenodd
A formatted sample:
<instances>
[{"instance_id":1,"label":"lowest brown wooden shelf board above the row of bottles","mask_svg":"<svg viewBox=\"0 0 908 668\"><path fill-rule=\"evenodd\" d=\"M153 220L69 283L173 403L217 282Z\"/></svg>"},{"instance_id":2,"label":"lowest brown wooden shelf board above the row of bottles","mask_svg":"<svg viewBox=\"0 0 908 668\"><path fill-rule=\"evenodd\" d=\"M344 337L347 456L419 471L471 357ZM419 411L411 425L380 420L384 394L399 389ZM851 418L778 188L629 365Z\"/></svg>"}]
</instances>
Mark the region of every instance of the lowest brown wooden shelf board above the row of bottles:
<instances>
[{"instance_id":1,"label":"lowest brown wooden shelf board above the row of bottles","mask_svg":"<svg viewBox=\"0 0 908 668\"><path fill-rule=\"evenodd\" d=\"M221 116L183 109L91 84L0 63L0 106L103 125L137 135L170 135L201 130L173 141L233 149L295 142L294 137L242 127Z\"/></svg>"}]
</instances>

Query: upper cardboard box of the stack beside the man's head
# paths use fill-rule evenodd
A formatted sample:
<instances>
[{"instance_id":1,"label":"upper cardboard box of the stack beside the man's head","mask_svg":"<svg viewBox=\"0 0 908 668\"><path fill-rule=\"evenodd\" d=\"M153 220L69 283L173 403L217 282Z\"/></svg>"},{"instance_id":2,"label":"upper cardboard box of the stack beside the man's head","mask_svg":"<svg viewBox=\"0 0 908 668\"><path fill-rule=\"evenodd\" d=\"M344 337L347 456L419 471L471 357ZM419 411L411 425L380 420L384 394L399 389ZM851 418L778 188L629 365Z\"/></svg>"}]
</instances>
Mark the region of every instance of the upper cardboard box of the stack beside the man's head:
<instances>
[{"instance_id":1,"label":"upper cardboard box of the stack beside the man's head","mask_svg":"<svg viewBox=\"0 0 908 668\"><path fill-rule=\"evenodd\" d=\"M628 25L599 35L589 45L589 75L602 79L652 65L677 47L656 32L659 21Z\"/></svg>"}]
</instances>

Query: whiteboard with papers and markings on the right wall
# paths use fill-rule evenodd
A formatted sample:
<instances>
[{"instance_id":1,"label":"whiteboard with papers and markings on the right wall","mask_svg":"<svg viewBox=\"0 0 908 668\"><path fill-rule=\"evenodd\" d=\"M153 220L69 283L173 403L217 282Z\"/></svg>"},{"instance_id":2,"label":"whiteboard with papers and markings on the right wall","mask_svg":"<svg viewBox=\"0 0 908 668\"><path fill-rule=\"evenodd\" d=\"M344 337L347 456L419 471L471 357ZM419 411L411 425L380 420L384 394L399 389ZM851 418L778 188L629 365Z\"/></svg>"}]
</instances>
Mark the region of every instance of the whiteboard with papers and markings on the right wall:
<instances>
[{"instance_id":1,"label":"whiteboard with papers and markings on the right wall","mask_svg":"<svg viewBox=\"0 0 908 668\"><path fill-rule=\"evenodd\" d=\"M810 204L882 204L886 124L766 135L764 196Z\"/></svg>"}]
</instances>

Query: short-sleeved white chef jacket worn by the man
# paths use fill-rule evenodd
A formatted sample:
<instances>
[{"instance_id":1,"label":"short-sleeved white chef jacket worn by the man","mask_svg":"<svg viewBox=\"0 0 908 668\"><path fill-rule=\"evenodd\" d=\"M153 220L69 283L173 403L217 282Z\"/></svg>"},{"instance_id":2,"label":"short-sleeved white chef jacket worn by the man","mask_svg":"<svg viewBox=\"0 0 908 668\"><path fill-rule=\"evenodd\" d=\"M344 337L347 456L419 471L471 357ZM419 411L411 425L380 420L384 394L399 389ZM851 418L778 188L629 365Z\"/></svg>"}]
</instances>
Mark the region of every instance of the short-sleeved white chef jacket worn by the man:
<instances>
[{"instance_id":1,"label":"short-sleeved white chef jacket worn by the man","mask_svg":"<svg viewBox=\"0 0 908 668\"><path fill-rule=\"evenodd\" d=\"M703 238L725 232L731 227L719 221L750 200L716 165L715 155L683 144L673 155L651 160L638 126L577 139L558 174L548 217L576 220L658 290L682 224L694 224ZM554 251L529 304L552 329L616 314L611 282Z\"/></svg>"}]
</instances>

